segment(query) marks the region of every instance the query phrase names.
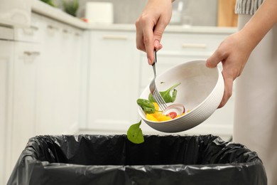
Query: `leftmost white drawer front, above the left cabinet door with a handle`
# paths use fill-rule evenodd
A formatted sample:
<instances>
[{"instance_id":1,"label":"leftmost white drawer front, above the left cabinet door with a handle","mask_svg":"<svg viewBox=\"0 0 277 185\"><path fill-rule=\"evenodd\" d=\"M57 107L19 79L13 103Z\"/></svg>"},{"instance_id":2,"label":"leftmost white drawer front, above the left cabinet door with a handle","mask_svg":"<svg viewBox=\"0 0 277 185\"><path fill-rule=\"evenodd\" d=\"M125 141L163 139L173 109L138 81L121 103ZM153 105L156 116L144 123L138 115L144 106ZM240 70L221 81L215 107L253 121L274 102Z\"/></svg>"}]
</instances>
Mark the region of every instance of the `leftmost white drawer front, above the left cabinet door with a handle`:
<instances>
[{"instance_id":1,"label":"leftmost white drawer front, above the left cabinet door with a handle","mask_svg":"<svg viewBox=\"0 0 277 185\"><path fill-rule=\"evenodd\" d=\"M40 43L40 22L42 17L37 14L31 16L31 26L28 28L15 28L14 38L16 41L25 41L31 43Z\"/></svg>"}]
</instances>

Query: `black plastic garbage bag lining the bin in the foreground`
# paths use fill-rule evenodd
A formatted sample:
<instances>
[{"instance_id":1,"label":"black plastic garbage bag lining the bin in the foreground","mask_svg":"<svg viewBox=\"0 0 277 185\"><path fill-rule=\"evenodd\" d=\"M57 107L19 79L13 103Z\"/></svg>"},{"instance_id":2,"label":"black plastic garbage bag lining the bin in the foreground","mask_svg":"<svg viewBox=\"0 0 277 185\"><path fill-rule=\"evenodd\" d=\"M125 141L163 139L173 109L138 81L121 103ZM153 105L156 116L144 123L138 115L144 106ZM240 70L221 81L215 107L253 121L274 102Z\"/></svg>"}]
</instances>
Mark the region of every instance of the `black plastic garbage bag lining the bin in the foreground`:
<instances>
[{"instance_id":1,"label":"black plastic garbage bag lining the bin in the foreground","mask_svg":"<svg viewBox=\"0 0 277 185\"><path fill-rule=\"evenodd\" d=\"M267 183L256 152L212 135L60 135L29 139L8 184Z\"/></svg>"}]
</instances>

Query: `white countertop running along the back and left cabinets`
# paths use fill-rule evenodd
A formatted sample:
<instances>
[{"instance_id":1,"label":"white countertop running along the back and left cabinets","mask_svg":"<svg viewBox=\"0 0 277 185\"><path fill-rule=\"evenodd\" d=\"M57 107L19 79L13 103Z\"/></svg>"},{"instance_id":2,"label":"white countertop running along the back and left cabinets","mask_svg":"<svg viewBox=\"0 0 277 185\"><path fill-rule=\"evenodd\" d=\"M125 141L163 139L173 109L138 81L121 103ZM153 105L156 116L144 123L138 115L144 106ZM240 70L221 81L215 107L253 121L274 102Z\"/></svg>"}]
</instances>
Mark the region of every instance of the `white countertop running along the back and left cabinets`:
<instances>
[{"instance_id":1,"label":"white countertop running along the back and left cabinets","mask_svg":"<svg viewBox=\"0 0 277 185\"><path fill-rule=\"evenodd\" d=\"M49 6L43 1L32 0L32 11L36 14L53 18L63 23L68 23L71 26L84 30L104 30L104 31L136 31L134 24L91 24L66 14L61 9ZM237 28L232 27L216 27L216 26L173 26L168 25L165 28L167 33L234 33Z\"/></svg>"}]
</instances>

